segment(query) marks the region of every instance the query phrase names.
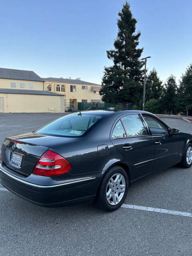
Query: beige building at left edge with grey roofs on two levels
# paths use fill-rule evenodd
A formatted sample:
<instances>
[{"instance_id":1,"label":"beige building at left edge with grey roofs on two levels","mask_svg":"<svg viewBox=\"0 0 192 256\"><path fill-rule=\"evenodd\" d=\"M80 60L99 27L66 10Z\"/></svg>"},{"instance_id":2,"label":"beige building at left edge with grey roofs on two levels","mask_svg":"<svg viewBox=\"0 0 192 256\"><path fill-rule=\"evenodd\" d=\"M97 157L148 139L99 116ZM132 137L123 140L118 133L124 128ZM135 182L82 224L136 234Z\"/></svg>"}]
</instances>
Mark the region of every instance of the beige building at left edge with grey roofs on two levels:
<instances>
[{"instance_id":1,"label":"beige building at left edge with grey roofs on two levels","mask_svg":"<svg viewBox=\"0 0 192 256\"><path fill-rule=\"evenodd\" d=\"M0 68L0 113L64 112L64 96L33 71Z\"/></svg>"}]
</instances>

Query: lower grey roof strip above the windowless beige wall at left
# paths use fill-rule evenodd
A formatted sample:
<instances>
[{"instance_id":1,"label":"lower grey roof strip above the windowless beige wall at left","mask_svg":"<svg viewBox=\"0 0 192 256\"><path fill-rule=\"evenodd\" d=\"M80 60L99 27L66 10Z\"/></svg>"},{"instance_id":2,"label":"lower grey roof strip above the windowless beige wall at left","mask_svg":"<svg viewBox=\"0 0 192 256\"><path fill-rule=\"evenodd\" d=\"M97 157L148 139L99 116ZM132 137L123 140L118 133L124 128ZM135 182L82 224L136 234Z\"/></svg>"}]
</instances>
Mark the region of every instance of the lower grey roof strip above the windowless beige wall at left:
<instances>
[{"instance_id":1,"label":"lower grey roof strip above the windowless beige wall at left","mask_svg":"<svg viewBox=\"0 0 192 256\"><path fill-rule=\"evenodd\" d=\"M22 89L7 89L0 88L0 93L14 93L14 94L36 94L36 95L55 95L62 96L61 94L49 91L38 91L38 90L22 90Z\"/></svg>"}]
</instances>

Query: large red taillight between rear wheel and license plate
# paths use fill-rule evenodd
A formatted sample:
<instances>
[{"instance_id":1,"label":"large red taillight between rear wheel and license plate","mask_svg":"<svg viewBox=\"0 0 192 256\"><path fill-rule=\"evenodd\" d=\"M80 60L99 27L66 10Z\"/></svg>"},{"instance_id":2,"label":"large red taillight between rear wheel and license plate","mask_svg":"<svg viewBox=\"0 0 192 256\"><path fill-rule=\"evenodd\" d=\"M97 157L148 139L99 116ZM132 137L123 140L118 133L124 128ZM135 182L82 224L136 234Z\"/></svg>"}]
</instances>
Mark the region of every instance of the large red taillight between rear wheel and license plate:
<instances>
[{"instance_id":1,"label":"large red taillight between rear wheel and license plate","mask_svg":"<svg viewBox=\"0 0 192 256\"><path fill-rule=\"evenodd\" d=\"M71 164L64 157L47 150L38 160L33 173L41 176L56 176L71 170Z\"/></svg>"}]
</instances>

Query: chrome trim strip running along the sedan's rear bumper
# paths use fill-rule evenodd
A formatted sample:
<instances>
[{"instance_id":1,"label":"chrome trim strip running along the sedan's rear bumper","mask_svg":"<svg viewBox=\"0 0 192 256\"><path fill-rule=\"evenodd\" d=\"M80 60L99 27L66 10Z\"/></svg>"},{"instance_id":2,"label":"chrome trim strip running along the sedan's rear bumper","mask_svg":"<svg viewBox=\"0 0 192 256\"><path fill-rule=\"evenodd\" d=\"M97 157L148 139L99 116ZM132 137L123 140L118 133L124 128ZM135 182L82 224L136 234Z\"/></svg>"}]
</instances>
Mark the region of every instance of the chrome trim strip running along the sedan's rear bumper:
<instances>
[{"instance_id":1,"label":"chrome trim strip running along the sedan's rear bumper","mask_svg":"<svg viewBox=\"0 0 192 256\"><path fill-rule=\"evenodd\" d=\"M78 183L78 182L82 182L82 181L87 181L87 180L95 180L96 177L90 177L90 178L84 178L82 180L75 180L75 181L70 181L70 182L66 182L66 183L61 183L61 184L56 184L56 185L38 185L38 184L34 184L25 180L22 180L20 178L17 178L15 176L13 176L12 174L9 174L8 172L4 171L2 168L0 168L0 171L2 171L4 174L6 174L7 176L9 176L10 178L13 178L14 180L17 180L19 182L22 182L24 184L36 187L36 188L55 188L55 187L59 187L59 186L64 186L64 185L68 185L68 184L73 184L73 183Z\"/></svg>"}]
</instances>

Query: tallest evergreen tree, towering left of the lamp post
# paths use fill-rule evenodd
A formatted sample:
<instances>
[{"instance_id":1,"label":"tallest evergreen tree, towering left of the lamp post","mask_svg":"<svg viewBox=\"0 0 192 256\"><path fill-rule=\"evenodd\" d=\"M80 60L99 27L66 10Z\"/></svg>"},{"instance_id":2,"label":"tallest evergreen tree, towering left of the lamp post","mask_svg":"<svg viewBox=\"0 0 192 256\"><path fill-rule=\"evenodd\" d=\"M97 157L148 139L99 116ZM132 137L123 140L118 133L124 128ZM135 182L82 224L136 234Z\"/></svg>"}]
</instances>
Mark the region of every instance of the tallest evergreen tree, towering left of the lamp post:
<instances>
[{"instance_id":1,"label":"tallest evergreen tree, towering left of the lamp post","mask_svg":"<svg viewBox=\"0 0 192 256\"><path fill-rule=\"evenodd\" d=\"M130 4L123 5L118 13L118 34L115 50L107 51L114 65L104 68L100 95L105 102L137 103L142 97L144 70L139 60L143 48L138 48L140 32L136 32L137 20L132 16Z\"/></svg>"}]
</instances>

